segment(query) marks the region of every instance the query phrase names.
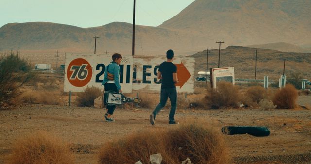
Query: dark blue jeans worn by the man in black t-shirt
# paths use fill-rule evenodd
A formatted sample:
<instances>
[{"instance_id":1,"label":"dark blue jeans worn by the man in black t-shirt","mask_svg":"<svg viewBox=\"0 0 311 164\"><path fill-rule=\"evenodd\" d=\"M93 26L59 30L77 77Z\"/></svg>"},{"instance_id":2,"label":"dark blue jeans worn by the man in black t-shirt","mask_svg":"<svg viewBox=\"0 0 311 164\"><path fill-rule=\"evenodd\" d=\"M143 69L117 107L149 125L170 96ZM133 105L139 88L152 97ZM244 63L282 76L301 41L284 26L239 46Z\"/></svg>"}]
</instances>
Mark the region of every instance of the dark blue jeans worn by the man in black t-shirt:
<instances>
[{"instance_id":1,"label":"dark blue jeans worn by the man in black t-shirt","mask_svg":"<svg viewBox=\"0 0 311 164\"><path fill-rule=\"evenodd\" d=\"M170 98L171 101L171 110L169 114L169 121L174 122L174 116L176 112L176 107L177 107L177 91L176 88L166 88L166 89L161 89L161 94L160 94L160 103L155 107L155 110L152 112L154 115L157 115L159 111L164 108L167 99Z\"/></svg>"}]
</instances>

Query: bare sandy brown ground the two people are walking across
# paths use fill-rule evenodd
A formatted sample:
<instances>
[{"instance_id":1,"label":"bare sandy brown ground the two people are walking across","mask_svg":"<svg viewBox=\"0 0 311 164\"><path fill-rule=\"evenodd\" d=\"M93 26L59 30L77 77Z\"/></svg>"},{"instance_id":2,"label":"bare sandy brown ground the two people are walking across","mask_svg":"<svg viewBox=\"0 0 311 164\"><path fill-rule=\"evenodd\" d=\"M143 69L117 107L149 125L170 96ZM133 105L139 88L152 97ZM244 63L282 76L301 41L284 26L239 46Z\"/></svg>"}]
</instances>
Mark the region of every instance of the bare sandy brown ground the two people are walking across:
<instances>
[{"instance_id":1,"label":"bare sandy brown ground the two people are walking across","mask_svg":"<svg viewBox=\"0 0 311 164\"><path fill-rule=\"evenodd\" d=\"M311 96L299 97L300 105L311 105ZM116 122L104 122L104 110L28 104L14 110L0 110L0 163L5 164L16 139L34 131L49 131L71 144L77 164L96 164L99 148L107 141L151 128L152 109L117 109ZM168 110L160 112L156 127L168 125ZM230 141L233 163L308 164L311 163L311 110L221 109L178 110L176 120L203 120L216 129L223 126L266 126L268 137L248 134L225 135ZM179 126L179 125L177 125Z\"/></svg>"}]
</instances>

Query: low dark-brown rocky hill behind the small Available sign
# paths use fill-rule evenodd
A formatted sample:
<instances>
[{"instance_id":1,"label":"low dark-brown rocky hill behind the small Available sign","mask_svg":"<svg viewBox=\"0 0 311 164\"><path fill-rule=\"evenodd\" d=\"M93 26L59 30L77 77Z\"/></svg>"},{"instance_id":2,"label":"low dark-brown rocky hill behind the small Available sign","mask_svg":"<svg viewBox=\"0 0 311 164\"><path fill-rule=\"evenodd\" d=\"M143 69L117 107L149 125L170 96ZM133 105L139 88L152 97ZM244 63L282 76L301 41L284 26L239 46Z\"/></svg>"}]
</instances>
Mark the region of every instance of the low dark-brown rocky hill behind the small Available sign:
<instances>
[{"instance_id":1,"label":"low dark-brown rocky hill behind the small Available sign","mask_svg":"<svg viewBox=\"0 0 311 164\"><path fill-rule=\"evenodd\" d=\"M220 67L234 67L236 78L253 79L255 77L256 48L229 46L221 49ZM196 71L206 71L207 51L191 55L196 61ZM311 53L288 53L270 49L257 49L257 79L264 76L277 80L283 74L284 59L286 59L285 74L301 73L306 79L311 79ZM218 49L212 49L208 55L208 67L218 67ZM272 80L271 79L271 80Z\"/></svg>"}]
</instances>

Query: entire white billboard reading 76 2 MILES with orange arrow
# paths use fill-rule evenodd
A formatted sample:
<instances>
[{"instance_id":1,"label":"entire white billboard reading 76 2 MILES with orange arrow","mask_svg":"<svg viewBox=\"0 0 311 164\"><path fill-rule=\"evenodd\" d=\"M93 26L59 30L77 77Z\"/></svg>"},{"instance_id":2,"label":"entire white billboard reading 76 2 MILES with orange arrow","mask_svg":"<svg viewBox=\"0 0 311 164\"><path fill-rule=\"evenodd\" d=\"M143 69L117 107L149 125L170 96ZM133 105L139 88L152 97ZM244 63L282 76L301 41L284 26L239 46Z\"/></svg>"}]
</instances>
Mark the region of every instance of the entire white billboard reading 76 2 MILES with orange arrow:
<instances>
[{"instance_id":1,"label":"entire white billboard reading 76 2 MILES with orange arrow","mask_svg":"<svg viewBox=\"0 0 311 164\"><path fill-rule=\"evenodd\" d=\"M120 85L124 93L132 90L159 92L161 82L157 79L159 65L166 61L164 56L122 55L120 64ZM112 61L107 55L67 54L65 57L65 92L83 92L86 87L99 87L104 79L106 66ZM177 92L194 92L194 59L176 57L173 63L177 66L179 83Z\"/></svg>"}]
</instances>

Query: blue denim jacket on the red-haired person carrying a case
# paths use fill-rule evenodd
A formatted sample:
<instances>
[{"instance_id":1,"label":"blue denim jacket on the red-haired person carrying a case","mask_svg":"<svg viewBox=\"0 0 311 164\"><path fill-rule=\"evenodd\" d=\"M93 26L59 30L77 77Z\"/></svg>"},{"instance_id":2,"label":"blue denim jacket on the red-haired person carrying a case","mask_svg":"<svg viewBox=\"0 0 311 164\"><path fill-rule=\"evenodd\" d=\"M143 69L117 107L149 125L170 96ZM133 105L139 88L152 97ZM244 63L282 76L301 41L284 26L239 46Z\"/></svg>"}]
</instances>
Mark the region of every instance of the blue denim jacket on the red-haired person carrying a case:
<instances>
[{"instance_id":1,"label":"blue denim jacket on the red-haired person carrying a case","mask_svg":"<svg viewBox=\"0 0 311 164\"><path fill-rule=\"evenodd\" d=\"M105 70L104 80L102 82L102 85L104 85L106 82L109 81L109 79L107 77L107 71L108 71L109 73L114 74L115 85L119 91L121 89L121 86L120 86L120 66L116 62L111 62L108 66L109 66L109 70L108 69ZM108 68L108 66L106 66L106 68Z\"/></svg>"}]
</instances>

